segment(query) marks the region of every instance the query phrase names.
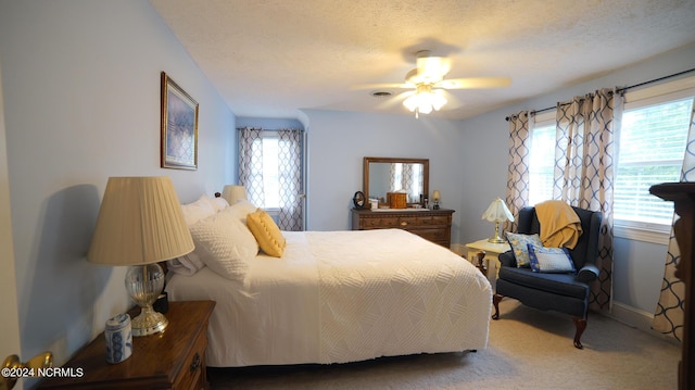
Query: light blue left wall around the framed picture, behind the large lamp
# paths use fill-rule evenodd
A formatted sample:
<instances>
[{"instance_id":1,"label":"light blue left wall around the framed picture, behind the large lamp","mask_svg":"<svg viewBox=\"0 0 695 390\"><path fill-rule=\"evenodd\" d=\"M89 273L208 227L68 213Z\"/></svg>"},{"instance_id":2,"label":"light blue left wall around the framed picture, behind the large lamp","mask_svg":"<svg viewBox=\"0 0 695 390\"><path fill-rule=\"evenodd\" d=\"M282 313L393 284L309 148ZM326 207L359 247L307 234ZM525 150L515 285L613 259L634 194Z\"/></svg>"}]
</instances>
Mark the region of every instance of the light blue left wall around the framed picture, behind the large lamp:
<instances>
[{"instance_id":1,"label":"light blue left wall around the framed picture, behind the large lamp","mask_svg":"<svg viewBox=\"0 0 695 390\"><path fill-rule=\"evenodd\" d=\"M147 1L1 1L0 58L21 355L62 364L131 305L125 268L85 260L108 178L213 193L235 116ZM160 168L161 71L200 103L198 171Z\"/></svg>"}]
</instances>

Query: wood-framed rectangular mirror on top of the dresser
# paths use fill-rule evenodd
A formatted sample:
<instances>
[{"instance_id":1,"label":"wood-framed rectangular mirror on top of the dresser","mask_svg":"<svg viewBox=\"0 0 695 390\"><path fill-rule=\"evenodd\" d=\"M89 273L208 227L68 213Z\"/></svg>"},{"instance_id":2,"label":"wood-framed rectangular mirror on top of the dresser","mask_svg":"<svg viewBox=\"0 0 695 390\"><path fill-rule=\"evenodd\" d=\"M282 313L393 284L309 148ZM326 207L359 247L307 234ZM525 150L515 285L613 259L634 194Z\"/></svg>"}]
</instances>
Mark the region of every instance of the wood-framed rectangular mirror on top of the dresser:
<instances>
[{"instance_id":1,"label":"wood-framed rectangular mirror on top of the dresser","mask_svg":"<svg viewBox=\"0 0 695 390\"><path fill-rule=\"evenodd\" d=\"M429 194L429 159L364 158L365 198L386 202L387 192L404 190L408 206Z\"/></svg>"}]
</instances>

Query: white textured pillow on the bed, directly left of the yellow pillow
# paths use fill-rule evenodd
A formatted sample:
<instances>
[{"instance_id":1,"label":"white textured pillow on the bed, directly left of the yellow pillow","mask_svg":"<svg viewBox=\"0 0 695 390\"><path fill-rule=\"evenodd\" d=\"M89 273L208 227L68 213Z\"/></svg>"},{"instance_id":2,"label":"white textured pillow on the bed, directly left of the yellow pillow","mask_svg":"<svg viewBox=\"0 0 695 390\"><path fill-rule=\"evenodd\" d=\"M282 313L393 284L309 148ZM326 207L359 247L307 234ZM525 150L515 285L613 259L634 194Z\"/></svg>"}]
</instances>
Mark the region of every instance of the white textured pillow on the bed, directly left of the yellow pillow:
<instances>
[{"instance_id":1,"label":"white textured pillow on the bed, directly left of the yellow pillow","mask_svg":"<svg viewBox=\"0 0 695 390\"><path fill-rule=\"evenodd\" d=\"M258 244L231 207L189 227L195 254L215 273L232 280L243 279Z\"/></svg>"}]
</instances>

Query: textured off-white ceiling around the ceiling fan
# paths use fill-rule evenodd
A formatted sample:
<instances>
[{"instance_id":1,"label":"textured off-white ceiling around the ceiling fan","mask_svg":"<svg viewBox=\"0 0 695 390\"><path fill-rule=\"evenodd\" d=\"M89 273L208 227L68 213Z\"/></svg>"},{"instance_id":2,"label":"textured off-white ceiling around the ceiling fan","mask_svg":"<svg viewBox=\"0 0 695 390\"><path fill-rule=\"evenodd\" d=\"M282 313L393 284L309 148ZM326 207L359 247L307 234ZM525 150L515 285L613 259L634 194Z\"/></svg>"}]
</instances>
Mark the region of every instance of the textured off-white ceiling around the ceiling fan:
<instances>
[{"instance_id":1,"label":"textured off-white ceiling around the ceiling fan","mask_svg":"<svg viewBox=\"0 0 695 390\"><path fill-rule=\"evenodd\" d=\"M412 115L403 90L384 99L353 87L402 83L427 49L452 59L450 78L513 79L451 91L432 114L465 118L695 42L694 0L150 2L237 116Z\"/></svg>"}]
</instances>

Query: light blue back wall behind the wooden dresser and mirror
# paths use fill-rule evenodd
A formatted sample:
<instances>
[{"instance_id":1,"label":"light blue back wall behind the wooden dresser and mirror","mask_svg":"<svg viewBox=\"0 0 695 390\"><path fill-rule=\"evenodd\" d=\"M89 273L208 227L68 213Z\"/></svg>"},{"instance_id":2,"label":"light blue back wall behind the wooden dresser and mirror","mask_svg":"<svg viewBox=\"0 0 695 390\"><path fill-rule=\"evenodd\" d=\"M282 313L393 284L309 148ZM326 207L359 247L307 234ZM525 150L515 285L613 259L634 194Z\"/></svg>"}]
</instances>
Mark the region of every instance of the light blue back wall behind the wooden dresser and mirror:
<instances>
[{"instance_id":1,"label":"light blue back wall behind the wooden dresser and mirror","mask_svg":"<svg viewBox=\"0 0 695 390\"><path fill-rule=\"evenodd\" d=\"M308 229L350 229L355 191L363 189L364 156L430 160L430 196L458 213L462 204L460 122L414 116L306 110L308 117ZM452 238L458 242L454 214Z\"/></svg>"}]
</instances>

